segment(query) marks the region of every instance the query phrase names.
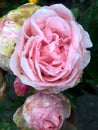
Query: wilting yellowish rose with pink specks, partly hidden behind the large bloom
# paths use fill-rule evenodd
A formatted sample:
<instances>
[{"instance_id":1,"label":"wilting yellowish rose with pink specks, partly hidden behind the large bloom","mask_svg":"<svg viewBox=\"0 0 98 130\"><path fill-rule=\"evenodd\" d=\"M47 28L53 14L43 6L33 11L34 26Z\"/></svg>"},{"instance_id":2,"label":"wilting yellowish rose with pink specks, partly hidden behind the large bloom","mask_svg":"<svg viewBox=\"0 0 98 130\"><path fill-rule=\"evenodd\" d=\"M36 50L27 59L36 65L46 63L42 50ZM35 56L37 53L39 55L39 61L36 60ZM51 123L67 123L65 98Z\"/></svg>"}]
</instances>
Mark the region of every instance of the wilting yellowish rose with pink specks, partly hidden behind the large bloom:
<instances>
[{"instance_id":1,"label":"wilting yellowish rose with pink specks, partly hidden behind the large bloom","mask_svg":"<svg viewBox=\"0 0 98 130\"><path fill-rule=\"evenodd\" d=\"M14 51L20 28L38 8L39 6L34 4L25 4L0 18L0 67L2 69L10 70L9 58Z\"/></svg>"}]
</instances>

